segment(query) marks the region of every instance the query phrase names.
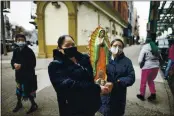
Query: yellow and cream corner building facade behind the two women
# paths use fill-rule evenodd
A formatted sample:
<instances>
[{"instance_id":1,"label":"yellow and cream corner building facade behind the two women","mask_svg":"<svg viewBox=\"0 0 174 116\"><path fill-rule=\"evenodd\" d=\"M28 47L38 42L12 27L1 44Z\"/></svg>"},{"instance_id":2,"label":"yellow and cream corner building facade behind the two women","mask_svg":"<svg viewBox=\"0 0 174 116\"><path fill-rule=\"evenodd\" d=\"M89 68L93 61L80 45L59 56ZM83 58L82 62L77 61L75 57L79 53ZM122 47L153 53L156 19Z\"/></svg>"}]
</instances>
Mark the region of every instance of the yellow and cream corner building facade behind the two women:
<instances>
[{"instance_id":1,"label":"yellow and cream corner building facade behind the two women","mask_svg":"<svg viewBox=\"0 0 174 116\"><path fill-rule=\"evenodd\" d=\"M57 40L61 35L71 35L78 50L87 52L87 41L97 26L105 28L110 39L113 25L116 25L116 31L122 34L123 29L127 27L127 23L115 15L115 11L104 2L37 1L35 3L39 58L52 57L52 50L57 48ZM122 36L120 38L123 39Z\"/></svg>"}]
</instances>

